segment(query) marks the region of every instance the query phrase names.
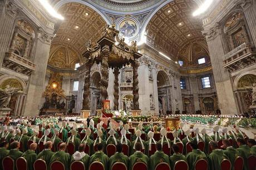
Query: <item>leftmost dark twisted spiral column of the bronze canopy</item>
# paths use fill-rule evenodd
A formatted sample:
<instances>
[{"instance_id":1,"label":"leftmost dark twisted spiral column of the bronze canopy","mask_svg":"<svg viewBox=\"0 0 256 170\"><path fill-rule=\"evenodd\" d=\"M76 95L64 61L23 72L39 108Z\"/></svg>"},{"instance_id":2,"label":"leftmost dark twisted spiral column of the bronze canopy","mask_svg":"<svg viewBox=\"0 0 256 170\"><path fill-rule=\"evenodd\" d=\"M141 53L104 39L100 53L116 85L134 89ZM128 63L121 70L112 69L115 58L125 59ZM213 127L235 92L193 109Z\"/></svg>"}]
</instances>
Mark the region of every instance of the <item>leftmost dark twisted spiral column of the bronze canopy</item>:
<instances>
[{"instance_id":1,"label":"leftmost dark twisted spiral column of the bronze canopy","mask_svg":"<svg viewBox=\"0 0 256 170\"><path fill-rule=\"evenodd\" d=\"M90 79L91 79L91 62L85 63L85 84L83 84L83 108L84 110L90 109Z\"/></svg>"}]
</instances>

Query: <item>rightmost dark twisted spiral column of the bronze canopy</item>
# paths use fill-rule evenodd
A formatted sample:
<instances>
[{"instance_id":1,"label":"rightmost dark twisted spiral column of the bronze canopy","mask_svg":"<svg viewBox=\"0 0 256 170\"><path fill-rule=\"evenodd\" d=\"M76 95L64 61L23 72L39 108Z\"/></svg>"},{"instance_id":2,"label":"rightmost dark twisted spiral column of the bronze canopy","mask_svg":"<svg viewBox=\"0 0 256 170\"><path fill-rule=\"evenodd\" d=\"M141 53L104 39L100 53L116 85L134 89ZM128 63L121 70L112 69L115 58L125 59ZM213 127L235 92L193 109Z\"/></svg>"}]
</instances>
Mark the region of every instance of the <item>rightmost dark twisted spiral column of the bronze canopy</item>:
<instances>
[{"instance_id":1,"label":"rightmost dark twisted spiral column of the bronze canopy","mask_svg":"<svg viewBox=\"0 0 256 170\"><path fill-rule=\"evenodd\" d=\"M133 102L134 102L134 110L138 110L140 109L139 107L139 79L138 79L138 67L140 66L140 63L138 61L134 61L134 63L132 63L132 67L133 67L133 83L132 83L132 87L133 87L133 91L132 94L134 95L133 98Z\"/></svg>"}]
</instances>

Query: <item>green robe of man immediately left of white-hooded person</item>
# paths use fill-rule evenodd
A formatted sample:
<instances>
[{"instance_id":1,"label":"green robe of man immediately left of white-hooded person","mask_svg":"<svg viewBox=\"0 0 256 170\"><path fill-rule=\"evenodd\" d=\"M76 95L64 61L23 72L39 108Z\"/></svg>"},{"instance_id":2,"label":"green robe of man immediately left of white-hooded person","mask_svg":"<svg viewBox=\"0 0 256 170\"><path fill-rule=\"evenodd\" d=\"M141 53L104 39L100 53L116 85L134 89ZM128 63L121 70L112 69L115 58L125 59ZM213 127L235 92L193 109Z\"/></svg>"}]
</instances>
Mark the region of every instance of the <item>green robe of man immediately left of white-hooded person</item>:
<instances>
[{"instance_id":1,"label":"green robe of man immediately left of white-hooded person","mask_svg":"<svg viewBox=\"0 0 256 170\"><path fill-rule=\"evenodd\" d=\"M53 154L50 164L54 161L60 161L64 164L65 169L70 169L70 154L66 153L64 151L58 151L55 154Z\"/></svg>"}]
</instances>

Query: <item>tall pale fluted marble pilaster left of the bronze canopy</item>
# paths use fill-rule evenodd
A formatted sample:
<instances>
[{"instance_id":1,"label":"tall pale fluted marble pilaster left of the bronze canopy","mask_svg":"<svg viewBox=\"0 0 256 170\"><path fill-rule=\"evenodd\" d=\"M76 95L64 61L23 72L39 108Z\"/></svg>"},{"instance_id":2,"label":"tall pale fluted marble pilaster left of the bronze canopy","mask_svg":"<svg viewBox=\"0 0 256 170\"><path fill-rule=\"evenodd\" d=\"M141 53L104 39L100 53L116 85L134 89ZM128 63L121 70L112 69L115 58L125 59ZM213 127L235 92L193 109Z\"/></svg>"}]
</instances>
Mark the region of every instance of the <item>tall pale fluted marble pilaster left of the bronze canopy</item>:
<instances>
[{"instance_id":1,"label":"tall pale fluted marble pilaster left of the bronze canopy","mask_svg":"<svg viewBox=\"0 0 256 170\"><path fill-rule=\"evenodd\" d=\"M43 87L52 38L42 30L38 33L34 53L36 70L29 79L26 107L24 108L24 115L26 116L36 116L39 113L41 96L45 90Z\"/></svg>"}]
</instances>

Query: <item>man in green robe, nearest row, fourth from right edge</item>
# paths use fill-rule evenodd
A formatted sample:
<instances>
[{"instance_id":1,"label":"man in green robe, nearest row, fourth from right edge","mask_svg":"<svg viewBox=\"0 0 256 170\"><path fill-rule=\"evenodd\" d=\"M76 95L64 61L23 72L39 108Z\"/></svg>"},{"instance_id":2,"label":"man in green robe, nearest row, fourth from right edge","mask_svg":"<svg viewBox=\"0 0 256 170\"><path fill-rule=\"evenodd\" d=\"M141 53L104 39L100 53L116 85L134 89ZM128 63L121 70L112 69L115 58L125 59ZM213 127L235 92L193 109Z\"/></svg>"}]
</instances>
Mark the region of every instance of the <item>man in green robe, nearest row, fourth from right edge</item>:
<instances>
[{"instance_id":1,"label":"man in green robe, nearest row, fourth from right edge","mask_svg":"<svg viewBox=\"0 0 256 170\"><path fill-rule=\"evenodd\" d=\"M218 149L217 142L211 141L209 145L213 151L209 154L209 170L221 169L220 162L223 159L228 159L228 157L224 154L224 152L221 149Z\"/></svg>"}]
</instances>

